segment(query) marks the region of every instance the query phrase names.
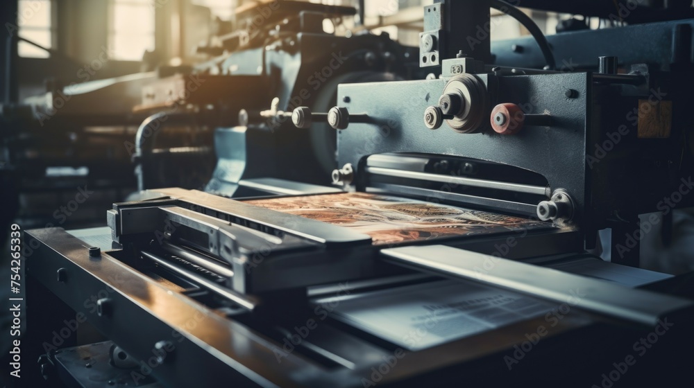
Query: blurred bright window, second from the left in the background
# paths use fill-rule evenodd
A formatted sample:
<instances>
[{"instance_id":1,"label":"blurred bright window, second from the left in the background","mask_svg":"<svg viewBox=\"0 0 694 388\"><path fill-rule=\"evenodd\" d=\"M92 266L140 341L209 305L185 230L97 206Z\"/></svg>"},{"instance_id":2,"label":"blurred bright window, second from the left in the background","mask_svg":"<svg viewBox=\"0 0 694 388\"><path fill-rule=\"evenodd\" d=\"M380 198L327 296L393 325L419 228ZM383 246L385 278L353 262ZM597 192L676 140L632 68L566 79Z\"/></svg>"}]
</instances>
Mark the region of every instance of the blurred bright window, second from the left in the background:
<instances>
[{"instance_id":1,"label":"blurred bright window, second from the left in the background","mask_svg":"<svg viewBox=\"0 0 694 388\"><path fill-rule=\"evenodd\" d=\"M108 45L115 60L142 60L145 50L154 49L152 0L111 0Z\"/></svg>"}]
</instances>

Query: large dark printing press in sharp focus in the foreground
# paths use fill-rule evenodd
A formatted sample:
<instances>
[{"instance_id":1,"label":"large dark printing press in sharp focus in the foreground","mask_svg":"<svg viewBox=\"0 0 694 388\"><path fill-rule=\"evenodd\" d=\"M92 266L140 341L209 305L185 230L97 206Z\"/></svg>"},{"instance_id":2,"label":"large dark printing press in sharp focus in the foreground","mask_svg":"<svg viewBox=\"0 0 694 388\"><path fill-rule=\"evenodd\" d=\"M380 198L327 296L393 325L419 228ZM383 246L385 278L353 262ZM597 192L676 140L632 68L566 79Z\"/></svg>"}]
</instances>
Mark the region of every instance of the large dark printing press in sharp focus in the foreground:
<instances>
[{"instance_id":1,"label":"large dark printing press in sharp focus in the foreground","mask_svg":"<svg viewBox=\"0 0 694 388\"><path fill-rule=\"evenodd\" d=\"M49 346L49 380L691 380L692 276L638 269L629 236L691 177L694 22L648 32L645 45L662 46L654 30L670 39L668 67L594 55L597 71L561 69L555 53L533 69L545 48L570 48L536 37L543 50L528 67L500 64L476 35L489 6L506 5L425 6L420 67L434 76L342 84L327 112L291 112L298 129L337 132L332 187L265 179L253 197L153 188L114 204L108 227L26 231L29 325L46 328L34 340L81 317L105 340ZM694 204L681 197L677 208ZM612 263L599 258L605 228Z\"/></svg>"}]
</instances>

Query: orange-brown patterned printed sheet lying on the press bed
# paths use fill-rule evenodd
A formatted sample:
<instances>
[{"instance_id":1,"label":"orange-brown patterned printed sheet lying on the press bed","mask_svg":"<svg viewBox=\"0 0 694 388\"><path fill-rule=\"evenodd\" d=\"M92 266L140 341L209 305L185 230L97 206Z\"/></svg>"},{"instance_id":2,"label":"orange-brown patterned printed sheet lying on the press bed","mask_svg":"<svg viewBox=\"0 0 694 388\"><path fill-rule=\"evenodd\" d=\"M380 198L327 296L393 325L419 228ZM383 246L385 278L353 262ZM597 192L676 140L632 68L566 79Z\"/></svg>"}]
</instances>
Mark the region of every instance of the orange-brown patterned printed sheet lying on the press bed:
<instances>
[{"instance_id":1,"label":"orange-brown patterned printed sheet lying on the press bed","mask_svg":"<svg viewBox=\"0 0 694 388\"><path fill-rule=\"evenodd\" d=\"M369 193L340 193L250 200L248 204L348 227L374 245L473 236L551 224L525 218Z\"/></svg>"}]
</instances>

